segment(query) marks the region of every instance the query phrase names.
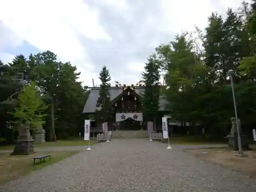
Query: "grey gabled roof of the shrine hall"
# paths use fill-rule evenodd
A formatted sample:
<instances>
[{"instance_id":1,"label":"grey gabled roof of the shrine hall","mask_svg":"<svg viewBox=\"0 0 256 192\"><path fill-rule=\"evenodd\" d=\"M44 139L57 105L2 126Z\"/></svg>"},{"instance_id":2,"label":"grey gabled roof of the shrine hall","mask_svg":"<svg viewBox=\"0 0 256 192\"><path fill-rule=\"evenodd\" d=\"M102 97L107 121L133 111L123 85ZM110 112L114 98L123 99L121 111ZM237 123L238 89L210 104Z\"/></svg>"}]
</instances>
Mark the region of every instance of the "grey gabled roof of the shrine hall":
<instances>
[{"instance_id":1,"label":"grey gabled roof of the shrine hall","mask_svg":"<svg viewBox=\"0 0 256 192\"><path fill-rule=\"evenodd\" d=\"M88 97L86 104L84 105L82 113L95 113L96 110L100 110L100 107L96 106L97 100L99 98L100 88L96 87L96 88L90 88L90 89L91 89L91 93ZM136 87L134 90L138 95L142 96L144 89L143 87ZM123 92L122 87L111 87L109 89L110 99L113 100L122 92ZM159 105L160 105L159 111L165 111L166 99L162 95L159 97Z\"/></svg>"}]
</instances>

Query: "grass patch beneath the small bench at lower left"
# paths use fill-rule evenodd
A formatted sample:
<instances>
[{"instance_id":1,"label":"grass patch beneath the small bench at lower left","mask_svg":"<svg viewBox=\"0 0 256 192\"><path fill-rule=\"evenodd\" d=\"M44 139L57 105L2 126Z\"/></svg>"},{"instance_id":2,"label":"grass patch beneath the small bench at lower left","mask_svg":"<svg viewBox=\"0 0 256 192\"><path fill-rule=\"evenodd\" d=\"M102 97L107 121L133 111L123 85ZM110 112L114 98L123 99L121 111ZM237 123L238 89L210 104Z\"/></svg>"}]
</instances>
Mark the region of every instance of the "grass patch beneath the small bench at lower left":
<instances>
[{"instance_id":1,"label":"grass patch beneath the small bench at lower left","mask_svg":"<svg viewBox=\"0 0 256 192\"><path fill-rule=\"evenodd\" d=\"M8 181L18 179L24 175L29 174L33 170L41 169L47 165L53 164L60 160L63 160L69 156L75 155L79 153L79 151L72 152L38 152L31 155L10 155L9 153L0 154L0 185L7 183ZM34 161L32 157L52 154L51 161L49 158L46 158L46 162L39 163L39 160L36 160L36 164L34 165Z\"/></svg>"}]
</instances>

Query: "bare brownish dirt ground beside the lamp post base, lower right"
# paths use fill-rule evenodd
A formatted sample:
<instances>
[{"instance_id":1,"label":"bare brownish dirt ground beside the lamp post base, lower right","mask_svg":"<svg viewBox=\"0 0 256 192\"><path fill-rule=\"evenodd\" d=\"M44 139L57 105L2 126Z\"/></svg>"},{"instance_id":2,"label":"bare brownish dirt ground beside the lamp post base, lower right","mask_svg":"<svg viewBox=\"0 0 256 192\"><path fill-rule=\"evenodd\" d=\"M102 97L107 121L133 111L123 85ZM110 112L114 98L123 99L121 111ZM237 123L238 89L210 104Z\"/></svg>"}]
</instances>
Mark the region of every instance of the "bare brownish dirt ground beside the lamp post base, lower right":
<instances>
[{"instance_id":1,"label":"bare brownish dirt ground beside the lamp post base, lower right","mask_svg":"<svg viewBox=\"0 0 256 192\"><path fill-rule=\"evenodd\" d=\"M256 178L256 145L250 145L250 148L251 151L244 151L248 157L236 156L236 152L228 148L198 148L186 150L186 152L200 159L238 170L248 177Z\"/></svg>"}]
</instances>

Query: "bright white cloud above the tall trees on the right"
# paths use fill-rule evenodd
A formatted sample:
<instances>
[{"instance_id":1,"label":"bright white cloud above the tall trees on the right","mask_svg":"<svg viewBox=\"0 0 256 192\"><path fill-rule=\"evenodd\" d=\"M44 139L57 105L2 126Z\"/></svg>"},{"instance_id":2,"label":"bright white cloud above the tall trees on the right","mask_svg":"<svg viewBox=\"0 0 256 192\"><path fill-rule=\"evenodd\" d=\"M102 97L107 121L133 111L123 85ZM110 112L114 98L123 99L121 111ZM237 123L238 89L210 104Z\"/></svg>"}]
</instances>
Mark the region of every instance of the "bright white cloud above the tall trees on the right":
<instances>
[{"instance_id":1,"label":"bright white cloud above the tall trees on the right","mask_svg":"<svg viewBox=\"0 0 256 192\"><path fill-rule=\"evenodd\" d=\"M163 20L160 21L161 29L173 33L182 30L194 31L195 26L204 29L207 26L208 17L212 12L226 15L228 8L238 10L242 0L194 0L194 1L169 1L161 0L163 8ZM251 2L245 0L245 2Z\"/></svg>"}]
</instances>

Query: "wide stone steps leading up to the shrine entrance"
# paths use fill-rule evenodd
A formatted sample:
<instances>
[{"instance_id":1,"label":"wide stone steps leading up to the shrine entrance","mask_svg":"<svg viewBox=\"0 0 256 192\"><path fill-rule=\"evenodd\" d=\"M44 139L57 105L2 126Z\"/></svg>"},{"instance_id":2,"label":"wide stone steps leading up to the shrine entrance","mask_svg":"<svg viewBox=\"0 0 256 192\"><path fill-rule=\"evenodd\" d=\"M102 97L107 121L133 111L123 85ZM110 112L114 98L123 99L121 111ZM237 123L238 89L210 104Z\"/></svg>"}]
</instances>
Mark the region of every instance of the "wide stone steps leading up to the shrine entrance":
<instances>
[{"instance_id":1,"label":"wide stone steps leading up to the shrine entrance","mask_svg":"<svg viewBox=\"0 0 256 192\"><path fill-rule=\"evenodd\" d=\"M113 131L112 138L147 138L147 131Z\"/></svg>"}]
</instances>

